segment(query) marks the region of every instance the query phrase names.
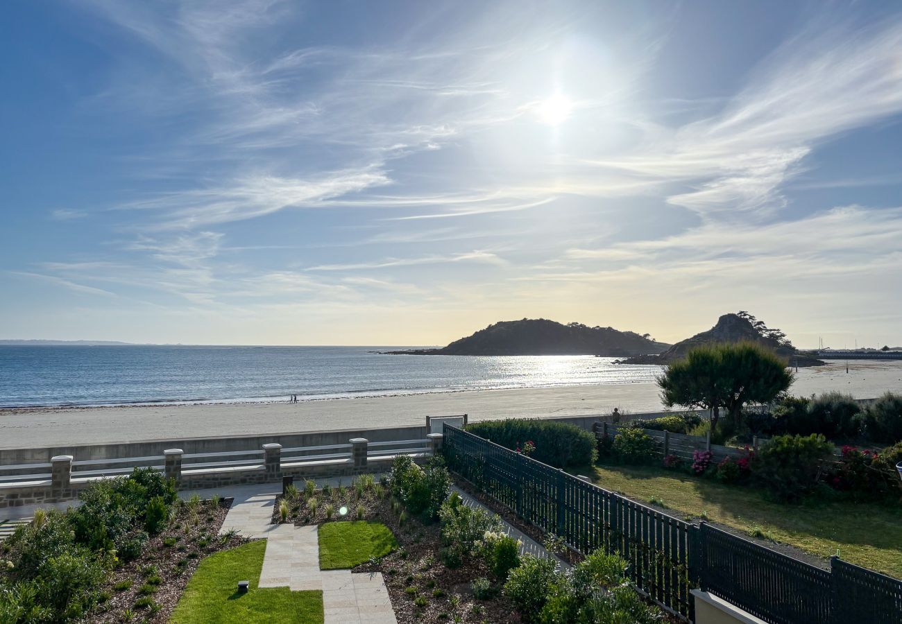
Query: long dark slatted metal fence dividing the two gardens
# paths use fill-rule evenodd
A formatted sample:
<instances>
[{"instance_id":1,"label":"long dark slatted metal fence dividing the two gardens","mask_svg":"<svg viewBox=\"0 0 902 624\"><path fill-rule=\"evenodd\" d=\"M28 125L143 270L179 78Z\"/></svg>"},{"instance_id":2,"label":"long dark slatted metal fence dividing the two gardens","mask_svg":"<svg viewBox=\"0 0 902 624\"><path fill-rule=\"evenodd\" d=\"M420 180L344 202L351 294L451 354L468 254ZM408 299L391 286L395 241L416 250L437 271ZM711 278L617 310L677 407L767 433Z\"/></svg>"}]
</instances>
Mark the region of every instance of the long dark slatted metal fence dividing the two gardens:
<instances>
[{"instance_id":1,"label":"long dark slatted metal fence dividing the two gardens","mask_svg":"<svg viewBox=\"0 0 902 624\"><path fill-rule=\"evenodd\" d=\"M630 562L633 583L694 616L700 587L771 624L902 624L902 581L836 557L831 570L707 523L690 525L489 440L445 425L448 467L485 494L587 554Z\"/></svg>"}]
</instances>

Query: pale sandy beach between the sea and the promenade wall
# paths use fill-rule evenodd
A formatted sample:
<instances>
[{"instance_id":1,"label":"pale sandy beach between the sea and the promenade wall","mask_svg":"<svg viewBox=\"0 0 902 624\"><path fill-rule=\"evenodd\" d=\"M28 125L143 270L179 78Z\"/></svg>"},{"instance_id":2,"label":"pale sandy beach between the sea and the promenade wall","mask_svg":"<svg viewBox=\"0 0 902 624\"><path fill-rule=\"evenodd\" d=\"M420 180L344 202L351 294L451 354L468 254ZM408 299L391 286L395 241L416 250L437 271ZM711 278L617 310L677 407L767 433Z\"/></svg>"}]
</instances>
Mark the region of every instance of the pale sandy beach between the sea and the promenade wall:
<instances>
[{"instance_id":1,"label":"pale sandy beach between the sea and the promenade wall","mask_svg":"<svg viewBox=\"0 0 902 624\"><path fill-rule=\"evenodd\" d=\"M801 369L791 391L829 390L859 399L902 391L902 362L832 362ZM299 403L154 405L0 410L0 448L103 444L173 437L241 436L354 427L400 427L427 416L469 414L473 420L589 416L618 407L628 413L662 409L653 382L478 390L373 399Z\"/></svg>"}]
</instances>

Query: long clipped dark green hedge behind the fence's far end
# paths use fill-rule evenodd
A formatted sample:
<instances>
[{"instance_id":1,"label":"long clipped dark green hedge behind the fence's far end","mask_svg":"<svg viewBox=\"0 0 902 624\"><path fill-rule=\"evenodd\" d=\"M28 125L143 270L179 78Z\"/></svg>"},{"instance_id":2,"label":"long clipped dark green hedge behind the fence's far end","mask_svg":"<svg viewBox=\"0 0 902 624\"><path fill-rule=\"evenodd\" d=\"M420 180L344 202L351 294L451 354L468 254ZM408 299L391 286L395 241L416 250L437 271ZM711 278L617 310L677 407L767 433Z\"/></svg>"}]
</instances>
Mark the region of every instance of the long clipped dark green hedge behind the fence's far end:
<instances>
[{"instance_id":1,"label":"long clipped dark green hedge behind the fence's far end","mask_svg":"<svg viewBox=\"0 0 902 624\"><path fill-rule=\"evenodd\" d=\"M516 449L521 441L531 441L536 447L532 458L556 468L585 465L597 459L595 436L567 423L538 418L507 418L468 425L466 430L511 450Z\"/></svg>"}]
</instances>

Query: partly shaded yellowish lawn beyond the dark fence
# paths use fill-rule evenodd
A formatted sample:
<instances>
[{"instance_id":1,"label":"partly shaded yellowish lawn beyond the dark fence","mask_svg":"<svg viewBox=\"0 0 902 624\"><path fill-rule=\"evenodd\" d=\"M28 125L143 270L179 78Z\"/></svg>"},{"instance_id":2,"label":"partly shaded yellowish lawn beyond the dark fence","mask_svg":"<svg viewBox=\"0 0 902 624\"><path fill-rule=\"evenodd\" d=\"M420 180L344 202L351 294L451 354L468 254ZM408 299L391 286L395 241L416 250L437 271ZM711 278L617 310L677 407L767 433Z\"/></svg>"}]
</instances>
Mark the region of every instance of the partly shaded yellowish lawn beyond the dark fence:
<instances>
[{"instance_id":1,"label":"partly shaded yellowish lawn beyond the dark fence","mask_svg":"<svg viewBox=\"0 0 902 624\"><path fill-rule=\"evenodd\" d=\"M651 466L596 466L594 483L642 502L660 500L677 517L697 519L704 511L713 522L812 555L829 557L839 549L846 561L902 578L902 506L898 504L778 503L750 487Z\"/></svg>"}]
</instances>

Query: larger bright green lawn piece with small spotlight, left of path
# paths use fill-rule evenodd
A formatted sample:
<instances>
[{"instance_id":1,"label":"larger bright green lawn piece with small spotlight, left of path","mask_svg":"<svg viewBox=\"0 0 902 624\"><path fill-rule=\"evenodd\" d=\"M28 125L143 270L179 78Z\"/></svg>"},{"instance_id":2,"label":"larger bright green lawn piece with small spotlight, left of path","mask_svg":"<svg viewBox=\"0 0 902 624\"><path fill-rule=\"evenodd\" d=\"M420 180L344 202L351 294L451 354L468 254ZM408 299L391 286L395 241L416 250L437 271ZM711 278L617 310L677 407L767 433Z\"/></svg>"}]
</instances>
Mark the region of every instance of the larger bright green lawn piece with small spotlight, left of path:
<instances>
[{"instance_id":1,"label":"larger bright green lawn piece with small spotlight, left of path","mask_svg":"<svg viewBox=\"0 0 902 624\"><path fill-rule=\"evenodd\" d=\"M170 622L322 624L323 592L291 592L287 587L257 588L265 550L266 541L258 540L201 561ZM250 591L239 594L239 581L250 581Z\"/></svg>"}]
</instances>

